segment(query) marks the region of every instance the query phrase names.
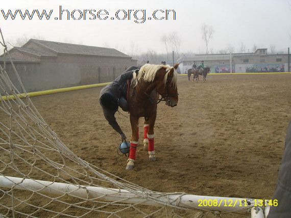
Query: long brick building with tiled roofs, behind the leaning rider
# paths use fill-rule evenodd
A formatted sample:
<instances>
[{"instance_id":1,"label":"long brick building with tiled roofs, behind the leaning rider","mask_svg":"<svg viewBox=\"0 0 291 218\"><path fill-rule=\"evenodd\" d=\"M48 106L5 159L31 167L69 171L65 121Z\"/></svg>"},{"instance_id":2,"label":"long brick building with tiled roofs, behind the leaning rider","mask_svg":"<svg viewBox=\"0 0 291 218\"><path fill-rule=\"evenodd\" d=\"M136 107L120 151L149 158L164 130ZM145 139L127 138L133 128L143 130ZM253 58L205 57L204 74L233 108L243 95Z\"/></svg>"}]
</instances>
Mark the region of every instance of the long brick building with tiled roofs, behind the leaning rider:
<instances>
[{"instance_id":1,"label":"long brick building with tiled roofs, behind the leaning rider","mask_svg":"<svg viewBox=\"0 0 291 218\"><path fill-rule=\"evenodd\" d=\"M9 53L28 92L105 83L137 65L136 60L114 48L36 39ZM18 84L10 62L6 62L13 84Z\"/></svg>"}]
</instances>

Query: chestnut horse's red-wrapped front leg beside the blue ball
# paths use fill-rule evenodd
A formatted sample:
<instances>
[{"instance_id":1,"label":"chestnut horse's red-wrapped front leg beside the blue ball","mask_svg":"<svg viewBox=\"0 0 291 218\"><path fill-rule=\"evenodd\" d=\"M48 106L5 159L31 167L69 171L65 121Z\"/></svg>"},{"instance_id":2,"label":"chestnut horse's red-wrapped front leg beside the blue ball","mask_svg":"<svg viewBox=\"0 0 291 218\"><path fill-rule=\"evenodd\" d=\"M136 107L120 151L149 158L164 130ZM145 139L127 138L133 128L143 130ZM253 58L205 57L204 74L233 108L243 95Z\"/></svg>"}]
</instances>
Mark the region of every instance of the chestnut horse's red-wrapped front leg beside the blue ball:
<instances>
[{"instance_id":1,"label":"chestnut horse's red-wrapped front leg beside the blue ball","mask_svg":"<svg viewBox=\"0 0 291 218\"><path fill-rule=\"evenodd\" d=\"M126 170L132 170L134 168L136 148L138 146L138 117L130 115L130 124L132 129L132 136L130 139L129 157L127 160Z\"/></svg>"}]
</instances>

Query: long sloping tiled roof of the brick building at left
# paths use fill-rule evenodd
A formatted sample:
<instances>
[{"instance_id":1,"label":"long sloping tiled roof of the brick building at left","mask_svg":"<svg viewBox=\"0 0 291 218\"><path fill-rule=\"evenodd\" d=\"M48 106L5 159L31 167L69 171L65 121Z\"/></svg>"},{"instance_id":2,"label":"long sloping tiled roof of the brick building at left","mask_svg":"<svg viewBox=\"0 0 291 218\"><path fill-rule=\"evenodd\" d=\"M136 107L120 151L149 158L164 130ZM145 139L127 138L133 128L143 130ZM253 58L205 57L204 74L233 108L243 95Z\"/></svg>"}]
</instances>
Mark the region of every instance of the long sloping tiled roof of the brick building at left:
<instances>
[{"instance_id":1,"label":"long sloping tiled roof of the brick building at left","mask_svg":"<svg viewBox=\"0 0 291 218\"><path fill-rule=\"evenodd\" d=\"M95 47L95 46L88 46L88 45L78 45L78 44L70 44L70 43L63 43L63 42L37 40L37 39L30 39L30 41L40 44L57 53L130 58L125 53L120 52L114 48Z\"/></svg>"}]
</instances>

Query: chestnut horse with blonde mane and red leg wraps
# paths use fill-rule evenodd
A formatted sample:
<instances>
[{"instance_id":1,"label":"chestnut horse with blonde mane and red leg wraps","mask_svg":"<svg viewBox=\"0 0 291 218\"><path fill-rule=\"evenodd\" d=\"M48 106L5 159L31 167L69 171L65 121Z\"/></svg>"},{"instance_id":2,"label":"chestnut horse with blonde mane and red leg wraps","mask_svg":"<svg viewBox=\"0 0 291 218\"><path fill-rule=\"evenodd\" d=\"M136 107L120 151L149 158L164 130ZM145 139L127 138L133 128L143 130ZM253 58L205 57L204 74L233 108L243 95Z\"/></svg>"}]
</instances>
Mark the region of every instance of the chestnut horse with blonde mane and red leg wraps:
<instances>
[{"instance_id":1,"label":"chestnut horse with blonde mane and red leg wraps","mask_svg":"<svg viewBox=\"0 0 291 218\"><path fill-rule=\"evenodd\" d=\"M127 170L134 168L136 147L138 145L138 119L144 117L144 145L148 145L149 159L156 160L154 145L154 126L157 116L157 103L164 100L166 105L174 107L178 103L177 72L179 64L143 65L138 74L133 73L131 85L128 88L128 104L132 137L130 141ZM158 99L161 95L161 99Z\"/></svg>"}]
</instances>

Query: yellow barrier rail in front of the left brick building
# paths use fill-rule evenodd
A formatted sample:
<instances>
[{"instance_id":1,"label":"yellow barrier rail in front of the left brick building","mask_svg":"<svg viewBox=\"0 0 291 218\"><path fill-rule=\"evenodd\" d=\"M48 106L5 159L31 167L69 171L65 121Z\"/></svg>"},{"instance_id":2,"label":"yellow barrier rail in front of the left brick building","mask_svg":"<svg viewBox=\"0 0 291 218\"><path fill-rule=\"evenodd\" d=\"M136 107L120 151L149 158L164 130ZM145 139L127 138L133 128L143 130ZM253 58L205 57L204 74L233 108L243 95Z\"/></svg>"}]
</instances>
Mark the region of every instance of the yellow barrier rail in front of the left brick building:
<instances>
[{"instance_id":1,"label":"yellow barrier rail in front of the left brick building","mask_svg":"<svg viewBox=\"0 0 291 218\"><path fill-rule=\"evenodd\" d=\"M44 91L38 91L38 92L29 92L27 93L29 97L35 97L35 96L40 96L40 95L50 95L50 94L55 94L55 93L61 93L61 92L69 92L69 91L75 91L75 90L81 90L81 89L90 89L90 88L96 88L96 87L102 87L106 86L107 84L110 83L100 83L100 84L92 84L92 85L84 85L84 86L74 86L74 87L67 87L67 88L61 88L61 89L50 89L50 90L44 90ZM19 98L26 98L26 94L18 94L17 95ZM15 99L14 95L9 95L9 96L3 96L0 98L0 101L4 99L10 100L10 99Z\"/></svg>"}]
</instances>

